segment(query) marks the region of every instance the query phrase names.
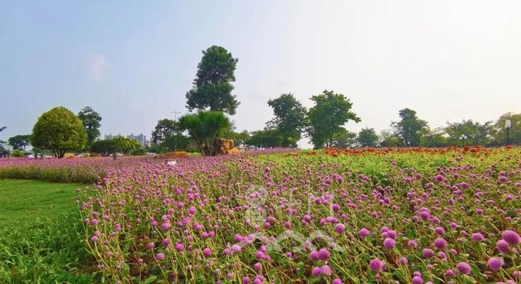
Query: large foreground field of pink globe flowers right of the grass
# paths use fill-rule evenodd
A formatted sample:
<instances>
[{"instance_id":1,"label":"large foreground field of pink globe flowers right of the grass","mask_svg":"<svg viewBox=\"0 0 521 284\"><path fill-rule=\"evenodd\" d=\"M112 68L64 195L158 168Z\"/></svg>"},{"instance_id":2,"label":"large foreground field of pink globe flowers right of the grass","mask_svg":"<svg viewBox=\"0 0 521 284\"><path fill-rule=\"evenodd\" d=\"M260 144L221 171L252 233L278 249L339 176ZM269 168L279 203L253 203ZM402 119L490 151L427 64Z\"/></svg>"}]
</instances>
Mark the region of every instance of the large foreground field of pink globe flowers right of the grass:
<instances>
[{"instance_id":1,"label":"large foreground field of pink globe flowers right of the grass","mask_svg":"<svg viewBox=\"0 0 521 284\"><path fill-rule=\"evenodd\" d=\"M110 283L518 283L520 148L142 161L80 190Z\"/></svg>"}]
</instances>

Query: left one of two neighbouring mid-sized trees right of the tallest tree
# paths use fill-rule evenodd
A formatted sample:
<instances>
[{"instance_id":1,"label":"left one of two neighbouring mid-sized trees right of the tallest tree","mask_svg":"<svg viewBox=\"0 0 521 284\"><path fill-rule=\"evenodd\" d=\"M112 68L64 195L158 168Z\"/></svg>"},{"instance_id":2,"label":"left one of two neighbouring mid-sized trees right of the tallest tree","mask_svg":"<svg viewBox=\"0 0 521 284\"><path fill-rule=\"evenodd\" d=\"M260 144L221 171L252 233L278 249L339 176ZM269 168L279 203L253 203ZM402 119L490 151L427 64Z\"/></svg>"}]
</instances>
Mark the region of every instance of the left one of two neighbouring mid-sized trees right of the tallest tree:
<instances>
[{"instance_id":1,"label":"left one of two neighbouring mid-sized trees right of the tallest tree","mask_svg":"<svg viewBox=\"0 0 521 284\"><path fill-rule=\"evenodd\" d=\"M296 147L307 126L307 109L293 94L281 94L276 99L270 99L268 105L273 108L275 118L267 124L282 133L284 140L281 146Z\"/></svg>"}]
</instances>

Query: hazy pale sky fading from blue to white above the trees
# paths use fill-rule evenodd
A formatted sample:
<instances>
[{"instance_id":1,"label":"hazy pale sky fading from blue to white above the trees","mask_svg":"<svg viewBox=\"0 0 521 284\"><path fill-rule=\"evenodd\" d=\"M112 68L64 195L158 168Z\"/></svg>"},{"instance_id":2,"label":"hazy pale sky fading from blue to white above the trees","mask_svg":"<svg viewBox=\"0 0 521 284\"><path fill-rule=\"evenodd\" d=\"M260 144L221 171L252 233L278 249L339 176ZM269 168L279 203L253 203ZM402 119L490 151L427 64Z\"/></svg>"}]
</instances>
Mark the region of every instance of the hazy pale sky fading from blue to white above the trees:
<instances>
[{"instance_id":1,"label":"hazy pale sky fading from blue to white above the trees","mask_svg":"<svg viewBox=\"0 0 521 284\"><path fill-rule=\"evenodd\" d=\"M23 2L23 3L21 3ZM521 112L521 1L0 1L0 139L90 106L102 134L186 112L201 50L239 58L232 116L262 129L267 100L345 94L380 131L399 109L431 127ZM304 145L303 145L304 146Z\"/></svg>"}]
</instances>

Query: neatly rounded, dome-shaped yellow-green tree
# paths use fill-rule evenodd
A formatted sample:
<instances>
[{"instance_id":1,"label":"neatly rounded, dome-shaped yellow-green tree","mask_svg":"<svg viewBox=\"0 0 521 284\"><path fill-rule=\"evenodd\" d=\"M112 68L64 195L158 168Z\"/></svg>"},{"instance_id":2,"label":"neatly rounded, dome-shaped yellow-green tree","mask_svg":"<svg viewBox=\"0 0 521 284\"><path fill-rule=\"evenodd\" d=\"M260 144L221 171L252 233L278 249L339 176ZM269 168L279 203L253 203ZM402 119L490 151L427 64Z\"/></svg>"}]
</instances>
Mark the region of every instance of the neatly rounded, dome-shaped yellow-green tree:
<instances>
[{"instance_id":1,"label":"neatly rounded, dome-shaped yellow-green tree","mask_svg":"<svg viewBox=\"0 0 521 284\"><path fill-rule=\"evenodd\" d=\"M82 121L65 107L44 112L33 127L31 144L63 158L67 151L80 151L87 143Z\"/></svg>"}]
</instances>

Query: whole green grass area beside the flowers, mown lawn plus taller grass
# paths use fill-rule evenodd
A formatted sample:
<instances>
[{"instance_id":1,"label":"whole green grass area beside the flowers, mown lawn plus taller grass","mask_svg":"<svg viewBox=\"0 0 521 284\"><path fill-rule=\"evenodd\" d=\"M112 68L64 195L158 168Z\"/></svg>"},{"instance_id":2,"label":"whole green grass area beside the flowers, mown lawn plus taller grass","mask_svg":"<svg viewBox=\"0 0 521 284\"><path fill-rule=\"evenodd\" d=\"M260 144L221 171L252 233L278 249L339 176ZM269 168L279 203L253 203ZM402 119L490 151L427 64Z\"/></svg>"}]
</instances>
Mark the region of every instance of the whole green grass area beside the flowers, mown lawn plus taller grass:
<instances>
[{"instance_id":1,"label":"whole green grass area beside the flowers, mown lawn plus taller grass","mask_svg":"<svg viewBox=\"0 0 521 284\"><path fill-rule=\"evenodd\" d=\"M78 184L0 180L0 282L98 283L74 200Z\"/></svg>"}]
</instances>

